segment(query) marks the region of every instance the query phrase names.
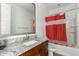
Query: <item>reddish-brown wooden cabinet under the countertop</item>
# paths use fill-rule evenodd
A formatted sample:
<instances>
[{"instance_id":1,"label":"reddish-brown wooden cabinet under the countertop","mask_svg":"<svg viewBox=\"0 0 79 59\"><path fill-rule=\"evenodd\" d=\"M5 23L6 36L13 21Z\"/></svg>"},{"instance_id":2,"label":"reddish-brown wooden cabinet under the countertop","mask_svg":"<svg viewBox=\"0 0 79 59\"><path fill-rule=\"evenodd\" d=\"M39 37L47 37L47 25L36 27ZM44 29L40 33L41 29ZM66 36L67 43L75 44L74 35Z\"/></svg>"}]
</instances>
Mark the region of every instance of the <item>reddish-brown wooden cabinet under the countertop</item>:
<instances>
[{"instance_id":1,"label":"reddish-brown wooden cabinet under the countertop","mask_svg":"<svg viewBox=\"0 0 79 59\"><path fill-rule=\"evenodd\" d=\"M22 53L20 56L47 56L48 55L48 41L45 41L29 51Z\"/></svg>"}]
</instances>

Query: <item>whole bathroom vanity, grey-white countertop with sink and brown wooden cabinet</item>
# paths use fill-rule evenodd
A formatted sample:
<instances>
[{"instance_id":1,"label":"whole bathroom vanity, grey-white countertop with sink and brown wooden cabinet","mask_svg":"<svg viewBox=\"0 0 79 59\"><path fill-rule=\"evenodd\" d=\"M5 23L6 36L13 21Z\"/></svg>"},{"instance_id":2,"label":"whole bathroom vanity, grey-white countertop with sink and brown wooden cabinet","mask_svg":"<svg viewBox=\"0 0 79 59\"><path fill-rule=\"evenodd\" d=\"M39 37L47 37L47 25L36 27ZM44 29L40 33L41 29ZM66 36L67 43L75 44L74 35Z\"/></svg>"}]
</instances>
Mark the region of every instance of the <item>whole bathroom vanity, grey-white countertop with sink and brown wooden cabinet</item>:
<instances>
[{"instance_id":1,"label":"whole bathroom vanity, grey-white countertop with sink and brown wooden cabinet","mask_svg":"<svg viewBox=\"0 0 79 59\"><path fill-rule=\"evenodd\" d=\"M48 41L39 38L14 42L0 50L0 56L47 56Z\"/></svg>"}]
</instances>

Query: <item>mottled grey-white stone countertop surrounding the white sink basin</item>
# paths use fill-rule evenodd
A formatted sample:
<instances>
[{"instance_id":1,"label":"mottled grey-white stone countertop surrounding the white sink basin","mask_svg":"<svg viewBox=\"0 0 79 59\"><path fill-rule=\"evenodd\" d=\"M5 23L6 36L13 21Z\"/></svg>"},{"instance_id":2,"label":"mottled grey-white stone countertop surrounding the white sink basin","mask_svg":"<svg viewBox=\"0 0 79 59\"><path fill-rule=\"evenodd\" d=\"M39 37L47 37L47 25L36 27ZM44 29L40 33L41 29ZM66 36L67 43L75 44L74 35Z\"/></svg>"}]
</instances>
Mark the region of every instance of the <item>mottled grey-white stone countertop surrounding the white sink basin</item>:
<instances>
[{"instance_id":1,"label":"mottled grey-white stone countertop surrounding the white sink basin","mask_svg":"<svg viewBox=\"0 0 79 59\"><path fill-rule=\"evenodd\" d=\"M12 44L8 45L4 50L0 50L0 56L19 56L22 53L24 53L25 51L28 51L28 50L32 49L33 47L46 41L44 39L41 40L39 38L35 38L32 40L35 40L37 42L32 45L29 45L29 46L24 45L24 43L27 43L27 41L31 41L30 39L26 40L24 42L20 42L20 43L17 43L17 42L12 43Z\"/></svg>"}]
</instances>

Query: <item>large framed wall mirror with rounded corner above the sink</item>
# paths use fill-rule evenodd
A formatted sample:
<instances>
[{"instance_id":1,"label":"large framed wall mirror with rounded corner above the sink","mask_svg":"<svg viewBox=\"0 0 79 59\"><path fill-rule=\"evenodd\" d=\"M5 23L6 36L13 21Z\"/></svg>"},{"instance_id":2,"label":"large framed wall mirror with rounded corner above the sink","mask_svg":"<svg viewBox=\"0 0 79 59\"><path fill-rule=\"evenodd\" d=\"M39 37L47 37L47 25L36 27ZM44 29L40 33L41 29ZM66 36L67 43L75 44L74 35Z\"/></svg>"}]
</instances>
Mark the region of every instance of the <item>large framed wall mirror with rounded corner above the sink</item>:
<instances>
[{"instance_id":1,"label":"large framed wall mirror with rounded corner above the sink","mask_svg":"<svg viewBox=\"0 0 79 59\"><path fill-rule=\"evenodd\" d=\"M0 35L35 33L33 3L1 3Z\"/></svg>"}]
</instances>

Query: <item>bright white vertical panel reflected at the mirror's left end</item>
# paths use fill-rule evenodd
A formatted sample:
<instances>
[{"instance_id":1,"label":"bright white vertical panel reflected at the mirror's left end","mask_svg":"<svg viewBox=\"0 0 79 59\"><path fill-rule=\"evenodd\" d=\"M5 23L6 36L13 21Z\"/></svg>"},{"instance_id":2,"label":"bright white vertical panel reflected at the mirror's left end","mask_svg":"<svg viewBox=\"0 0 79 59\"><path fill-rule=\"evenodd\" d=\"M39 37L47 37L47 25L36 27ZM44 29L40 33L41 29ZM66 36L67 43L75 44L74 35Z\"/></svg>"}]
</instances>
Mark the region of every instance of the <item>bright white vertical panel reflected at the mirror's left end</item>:
<instances>
[{"instance_id":1,"label":"bright white vertical panel reflected at the mirror's left end","mask_svg":"<svg viewBox=\"0 0 79 59\"><path fill-rule=\"evenodd\" d=\"M1 4L1 35L10 34L11 6Z\"/></svg>"}]
</instances>

